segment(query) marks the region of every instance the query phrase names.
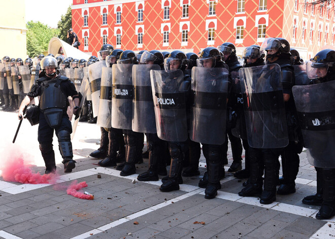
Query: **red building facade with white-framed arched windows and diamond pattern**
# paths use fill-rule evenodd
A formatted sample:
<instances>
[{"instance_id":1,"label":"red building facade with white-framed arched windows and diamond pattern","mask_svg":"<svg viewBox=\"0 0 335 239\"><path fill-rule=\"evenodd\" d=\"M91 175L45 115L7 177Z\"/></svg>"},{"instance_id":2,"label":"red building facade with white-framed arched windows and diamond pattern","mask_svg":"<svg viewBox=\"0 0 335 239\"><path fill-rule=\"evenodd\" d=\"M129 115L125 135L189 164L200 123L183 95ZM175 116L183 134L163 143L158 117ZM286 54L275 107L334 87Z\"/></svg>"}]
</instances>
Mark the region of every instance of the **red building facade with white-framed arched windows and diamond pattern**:
<instances>
[{"instance_id":1,"label":"red building facade with white-framed arched windows and diamond pattern","mask_svg":"<svg viewBox=\"0 0 335 239\"><path fill-rule=\"evenodd\" d=\"M283 37L307 59L335 41L334 5L313 7L309 1L74 0L72 26L80 50L92 55L104 43L198 53L224 42L241 54L267 37Z\"/></svg>"}]
</instances>

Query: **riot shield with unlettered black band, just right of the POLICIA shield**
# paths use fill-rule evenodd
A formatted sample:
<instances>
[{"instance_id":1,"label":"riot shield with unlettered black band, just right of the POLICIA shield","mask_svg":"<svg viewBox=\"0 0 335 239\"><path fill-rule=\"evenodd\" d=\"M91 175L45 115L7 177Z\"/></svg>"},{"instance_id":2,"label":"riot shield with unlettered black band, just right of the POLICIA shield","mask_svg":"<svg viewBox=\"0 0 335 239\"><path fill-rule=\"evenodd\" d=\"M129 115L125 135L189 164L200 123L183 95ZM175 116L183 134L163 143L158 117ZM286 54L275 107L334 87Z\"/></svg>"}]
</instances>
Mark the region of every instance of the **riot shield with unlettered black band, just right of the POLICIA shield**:
<instances>
[{"instance_id":1,"label":"riot shield with unlettered black band, just right of the POLICIA shield","mask_svg":"<svg viewBox=\"0 0 335 239\"><path fill-rule=\"evenodd\" d=\"M228 71L193 67L190 139L221 145L225 141Z\"/></svg>"}]
</instances>

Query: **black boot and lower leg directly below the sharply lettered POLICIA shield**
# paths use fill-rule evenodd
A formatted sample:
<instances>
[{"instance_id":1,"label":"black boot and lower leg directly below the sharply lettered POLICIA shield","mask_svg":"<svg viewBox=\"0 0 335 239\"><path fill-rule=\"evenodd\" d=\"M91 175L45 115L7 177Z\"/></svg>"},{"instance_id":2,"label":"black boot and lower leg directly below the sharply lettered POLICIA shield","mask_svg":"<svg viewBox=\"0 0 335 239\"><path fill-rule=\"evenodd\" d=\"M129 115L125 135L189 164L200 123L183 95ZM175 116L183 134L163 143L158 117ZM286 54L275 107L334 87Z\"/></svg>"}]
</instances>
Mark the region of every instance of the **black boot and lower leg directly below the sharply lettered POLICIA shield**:
<instances>
[{"instance_id":1,"label":"black boot and lower leg directly below the sharply lettered POLICIA shield","mask_svg":"<svg viewBox=\"0 0 335 239\"><path fill-rule=\"evenodd\" d=\"M159 190L162 192L171 192L179 190L179 181L181 179L181 173L183 168L183 152L181 146L171 144L170 146L171 164L169 178L166 181L162 181Z\"/></svg>"}]
</instances>

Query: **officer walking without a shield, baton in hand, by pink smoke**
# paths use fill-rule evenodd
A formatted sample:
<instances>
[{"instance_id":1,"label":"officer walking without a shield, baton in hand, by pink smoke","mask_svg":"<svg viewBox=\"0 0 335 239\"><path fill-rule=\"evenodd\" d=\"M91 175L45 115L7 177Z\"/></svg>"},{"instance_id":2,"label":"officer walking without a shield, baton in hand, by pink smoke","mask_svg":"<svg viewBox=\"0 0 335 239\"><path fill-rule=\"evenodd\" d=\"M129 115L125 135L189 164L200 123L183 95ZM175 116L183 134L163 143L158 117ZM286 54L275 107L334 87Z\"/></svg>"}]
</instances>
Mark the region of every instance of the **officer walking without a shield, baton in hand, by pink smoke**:
<instances>
[{"instance_id":1,"label":"officer walking without a shield, baton in hand, by pink smoke","mask_svg":"<svg viewBox=\"0 0 335 239\"><path fill-rule=\"evenodd\" d=\"M72 169L75 168L70 138L72 127L66 109L69 106L68 96L71 96L75 104L73 113L76 114L80 99L75 85L68 78L57 75L57 66L57 60L52 56L44 57L41 60L43 72L23 99L18 113L19 119L22 120L24 107L29 105L34 97L41 96L38 140L46 165L46 174L53 173L56 170L55 155L52 148L54 130L59 142L59 151L63 158L64 173L71 173ZM48 95L53 95L53 97Z\"/></svg>"}]
</instances>

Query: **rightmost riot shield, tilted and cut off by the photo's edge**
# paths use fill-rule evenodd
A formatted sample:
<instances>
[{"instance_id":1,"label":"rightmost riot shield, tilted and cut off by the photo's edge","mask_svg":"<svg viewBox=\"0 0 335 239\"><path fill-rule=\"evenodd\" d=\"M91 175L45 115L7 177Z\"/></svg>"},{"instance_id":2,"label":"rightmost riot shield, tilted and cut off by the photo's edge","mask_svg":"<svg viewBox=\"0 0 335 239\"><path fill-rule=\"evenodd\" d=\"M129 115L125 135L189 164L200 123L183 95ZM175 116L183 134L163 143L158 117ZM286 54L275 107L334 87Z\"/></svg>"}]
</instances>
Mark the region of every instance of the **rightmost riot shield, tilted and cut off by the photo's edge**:
<instances>
[{"instance_id":1,"label":"rightmost riot shield, tilted and cut off by the photo's edge","mask_svg":"<svg viewBox=\"0 0 335 239\"><path fill-rule=\"evenodd\" d=\"M335 81L293 86L292 92L309 163L335 168Z\"/></svg>"}]
</instances>

